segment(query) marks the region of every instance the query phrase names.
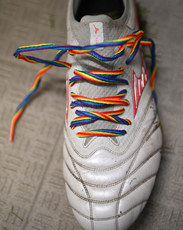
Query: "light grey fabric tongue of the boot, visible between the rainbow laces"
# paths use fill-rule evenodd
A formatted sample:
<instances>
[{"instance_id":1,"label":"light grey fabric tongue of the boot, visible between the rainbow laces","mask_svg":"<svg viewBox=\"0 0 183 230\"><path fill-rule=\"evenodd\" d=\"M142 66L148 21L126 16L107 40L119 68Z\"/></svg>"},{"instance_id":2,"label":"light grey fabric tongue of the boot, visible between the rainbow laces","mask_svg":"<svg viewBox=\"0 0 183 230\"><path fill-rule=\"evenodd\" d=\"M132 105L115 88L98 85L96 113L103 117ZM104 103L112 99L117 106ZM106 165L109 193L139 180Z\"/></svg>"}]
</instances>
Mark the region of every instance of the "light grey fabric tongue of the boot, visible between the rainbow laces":
<instances>
[{"instance_id":1,"label":"light grey fabric tongue of the boot, visible between the rainbow laces","mask_svg":"<svg viewBox=\"0 0 183 230\"><path fill-rule=\"evenodd\" d=\"M113 19L107 15L97 16L84 16L80 21L80 30L76 31L80 36L77 37L77 41L80 45L89 45L101 43L107 40L113 40L120 37L121 30L118 27L113 26ZM83 43L84 41L84 43ZM114 47L105 47L97 49L97 53L103 56L111 56L114 54ZM90 57L89 55L80 55L77 58L77 63L80 63L84 70L112 70L114 68L114 62L100 62ZM87 67L87 68L86 68ZM120 67L120 66L119 66ZM85 69L86 68L86 69ZM118 67L115 66L115 69ZM78 92L82 96L89 98L107 97L117 94L116 86L94 84L92 82L83 81L79 84ZM104 111L114 110L112 107L94 109L86 108L86 111ZM94 123L85 125L86 130L93 130L98 128L115 129L116 125L112 122L96 121ZM87 138L85 144L87 144L92 138Z\"/></svg>"}]
</instances>

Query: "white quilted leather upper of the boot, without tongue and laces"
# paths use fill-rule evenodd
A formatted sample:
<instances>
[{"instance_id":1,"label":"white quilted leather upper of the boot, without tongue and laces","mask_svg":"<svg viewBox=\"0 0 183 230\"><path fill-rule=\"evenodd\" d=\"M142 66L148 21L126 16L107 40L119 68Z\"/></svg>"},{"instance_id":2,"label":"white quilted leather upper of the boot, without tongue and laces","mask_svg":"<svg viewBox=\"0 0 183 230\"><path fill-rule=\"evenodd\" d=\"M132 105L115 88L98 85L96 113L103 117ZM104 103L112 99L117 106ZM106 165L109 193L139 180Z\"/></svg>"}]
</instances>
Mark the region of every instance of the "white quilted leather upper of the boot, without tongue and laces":
<instances>
[{"instance_id":1,"label":"white quilted leather upper of the boot, without tongue and laces","mask_svg":"<svg viewBox=\"0 0 183 230\"><path fill-rule=\"evenodd\" d=\"M133 4L133 0L129 0L133 16L127 19L129 28L134 27ZM71 1L69 7L71 10ZM78 45L79 41L74 36L69 17L68 41L70 44ZM132 30L129 28L128 31ZM128 66L128 76L132 69L138 72L139 58L140 55L137 55L136 61ZM71 78L73 69L81 70L82 65L73 57L69 57L68 61L73 63L68 72ZM94 137L86 144L85 138L76 136L76 133L84 128L80 126L72 130L69 127L75 117L75 109L69 109L63 151L64 178L73 213L87 230L127 229L144 208L154 185L162 146L159 118L149 80L142 93L135 118L130 87L131 82L127 87L130 91L127 96L131 105L125 108L124 116L130 116L132 125L125 126L127 134L116 137L115 140ZM118 89L120 86L117 86L117 91ZM69 89L69 94L71 91L79 93L77 84ZM69 103L73 100L70 96L68 99ZM116 126L117 129L119 127L121 129L120 125Z\"/></svg>"}]
</instances>

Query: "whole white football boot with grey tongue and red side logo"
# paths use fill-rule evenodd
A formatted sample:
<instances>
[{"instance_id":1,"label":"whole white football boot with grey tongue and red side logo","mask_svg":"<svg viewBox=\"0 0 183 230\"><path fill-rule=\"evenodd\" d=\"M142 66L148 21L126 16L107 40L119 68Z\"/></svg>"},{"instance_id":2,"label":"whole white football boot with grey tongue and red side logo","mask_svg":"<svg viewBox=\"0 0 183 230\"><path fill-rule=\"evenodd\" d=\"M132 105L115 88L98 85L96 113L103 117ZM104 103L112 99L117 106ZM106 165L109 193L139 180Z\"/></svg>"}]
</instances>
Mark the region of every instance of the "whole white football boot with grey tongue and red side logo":
<instances>
[{"instance_id":1,"label":"whole white football boot with grey tongue and red side logo","mask_svg":"<svg viewBox=\"0 0 183 230\"><path fill-rule=\"evenodd\" d=\"M139 29L135 1L69 0L67 29L67 43L73 46L93 45L131 35ZM95 51L109 57L118 48L101 46ZM67 61L72 67L67 73L64 178L73 213L87 230L128 229L143 210L159 168L162 133L150 74L146 70L142 47L126 64L130 52L131 47L125 46L124 55L112 61L99 61L88 54L68 55ZM124 72L117 78L125 79L126 84L77 79L69 85L76 75L74 70L115 71L121 67ZM90 107L78 99L79 95L90 102L90 99L112 97L121 91L125 92L126 105ZM73 102L76 102L74 106ZM83 111L102 114L118 111L121 107L123 113L112 117L125 119L124 124L87 118L86 114L82 117ZM81 120L93 119L93 122L73 125L72 129L72 121L79 116ZM98 130L99 134L92 131L93 135L87 137L91 130ZM112 135L115 130L122 130L123 135Z\"/></svg>"}]
</instances>

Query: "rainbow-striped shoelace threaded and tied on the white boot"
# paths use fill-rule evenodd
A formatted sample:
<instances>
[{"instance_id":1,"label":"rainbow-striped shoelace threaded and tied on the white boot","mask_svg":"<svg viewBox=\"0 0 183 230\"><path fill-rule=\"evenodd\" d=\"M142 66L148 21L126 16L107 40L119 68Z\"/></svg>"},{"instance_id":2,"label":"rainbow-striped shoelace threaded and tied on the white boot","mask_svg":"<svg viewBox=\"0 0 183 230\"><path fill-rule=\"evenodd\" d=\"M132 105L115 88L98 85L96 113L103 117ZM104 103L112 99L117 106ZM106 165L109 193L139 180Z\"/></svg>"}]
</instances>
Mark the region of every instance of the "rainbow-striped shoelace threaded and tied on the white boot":
<instances>
[{"instance_id":1,"label":"rainbow-striped shoelace threaded and tied on the white boot","mask_svg":"<svg viewBox=\"0 0 183 230\"><path fill-rule=\"evenodd\" d=\"M126 60L126 64L129 64L135 57L140 46L148 46L151 51L151 60L152 60L150 85L152 88L153 96L156 101L155 91L154 91L154 81L156 75L155 45L151 39L142 39L143 34L144 32L142 30L138 30L131 35L125 36L117 40L106 41L103 43L88 45L88 46L72 46L72 45L60 46L52 43L46 43L46 44L19 47L14 53L14 56L16 58L34 64L37 63L45 64L45 66L38 72L31 89L29 90L28 94L26 95L24 100L20 103L20 105L17 107L15 111L15 114L11 121L10 141L12 141L14 138L15 126L17 121L21 117L27 103L30 101L31 97L35 94L35 92L39 88L43 74L53 66L66 67L68 69L71 68L72 66L71 63L60 61L60 58L65 53L68 53L70 55L88 54L99 61L108 62L121 57L124 54L125 46L126 46L126 47L131 47L131 52L129 54L128 59ZM114 55L109 57L102 56L95 51L98 48L114 47L114 46L119 47L119 49L117 50L116 53L114 53ZM36 50L49 50L49 49L57 50L57 54L55 58L51 61L21 54L24 52L30 52ZM94 82L94 83L100 83L103 85L105 84L128 85L127 80L117 78L123 72L124 72L123 68L120 68L118 70L113 70L113 71L102 71L102 70L80 71L75 69L74 76L69 80L69 85L70 87L72 87L75 83L82 80ZM74 101L71 102L70 108L72 109L75 108L76 106L90 107L90 108L103 108L111 105L127 106L129 105L129 101L123 99L126 93L127 91L123 89L114 96L91 99L88 97L77 95L74 92L71 92L71 97L74 99ZM75 117L71 121L70 126L72 129L74 129L76 126L89 124L99 119L121 123L124 125L130 125L131 124L130 120L119 117L119 115L122 114L124 110L125 110L124 107L115 111L104 111L104 112L76 110L75 113L77 117ZM119 136L124 134L126 134L125 130L113 130L113 129L96 129L96 130L89 130L89 131L83 131L77 133L78 137Z\"/></svg>"}]
</instances>

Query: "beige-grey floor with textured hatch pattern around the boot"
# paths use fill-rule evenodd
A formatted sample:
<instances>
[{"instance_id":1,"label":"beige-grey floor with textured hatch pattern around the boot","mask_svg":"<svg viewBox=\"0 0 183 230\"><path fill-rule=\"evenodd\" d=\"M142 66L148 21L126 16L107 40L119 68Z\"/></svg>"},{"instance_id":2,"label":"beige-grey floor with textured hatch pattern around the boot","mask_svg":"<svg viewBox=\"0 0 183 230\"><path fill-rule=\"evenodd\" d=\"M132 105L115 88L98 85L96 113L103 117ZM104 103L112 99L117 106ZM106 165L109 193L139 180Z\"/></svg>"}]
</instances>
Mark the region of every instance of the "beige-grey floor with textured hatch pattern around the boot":
<instances>
[{"instance_id":1,"label":"beige-grey floor with textured hatch pattern around the boot","mask_svg":"<svg viewBox=\"0 0 183 230\"><path fill-rule=\"evenodd\" d=\"M183 1L139 3L157 44L164 149L151 198L131 230L182 230ZM44 76L14 142L8 141L13 112L41 67L12 54L21 45L65 44L66 8L66 0L0 0L0 230L81 229L62 175L65 70L52 68Z\"/></svg>"}]
</instances>

